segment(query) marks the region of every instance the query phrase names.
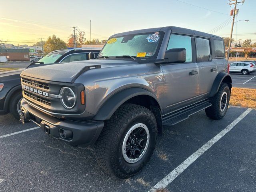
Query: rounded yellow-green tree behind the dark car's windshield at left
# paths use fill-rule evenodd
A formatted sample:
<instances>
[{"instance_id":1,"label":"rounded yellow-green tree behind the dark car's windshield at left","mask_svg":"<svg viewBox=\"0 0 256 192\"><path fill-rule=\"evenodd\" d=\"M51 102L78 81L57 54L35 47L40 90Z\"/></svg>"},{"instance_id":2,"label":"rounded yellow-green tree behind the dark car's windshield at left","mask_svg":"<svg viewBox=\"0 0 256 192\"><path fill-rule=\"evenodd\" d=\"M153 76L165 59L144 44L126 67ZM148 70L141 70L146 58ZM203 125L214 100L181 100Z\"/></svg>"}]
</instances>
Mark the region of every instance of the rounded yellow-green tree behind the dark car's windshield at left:
<instances>
[{"instance_id":1,"label":"rounded yellow-green tree behind the dark car's windshield at left","mask_svg":"<svg viewBox=\"0 0 256 192\"><path fill-rule=\"evenodd\" d=\"M44 44L44 53L48 54L55 50L66 49L66 43L55 35L49 36Z\"/></svg>"}]
</instances>

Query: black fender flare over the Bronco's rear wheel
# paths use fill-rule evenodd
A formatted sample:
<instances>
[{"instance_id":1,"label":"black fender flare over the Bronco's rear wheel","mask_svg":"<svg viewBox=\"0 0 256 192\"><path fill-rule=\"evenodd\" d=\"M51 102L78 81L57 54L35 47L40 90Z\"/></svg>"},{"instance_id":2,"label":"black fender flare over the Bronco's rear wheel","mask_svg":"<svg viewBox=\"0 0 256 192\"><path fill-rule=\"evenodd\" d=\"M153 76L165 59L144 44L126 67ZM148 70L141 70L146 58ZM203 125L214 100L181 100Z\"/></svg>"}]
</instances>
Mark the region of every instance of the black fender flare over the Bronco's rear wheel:
<instances>
[{"instance_id":1,"label":"black fender flare over the Bronco's rear wheel","mask_svg":"<svg viewBox=\"0 0 256 192\"><path fill-rule=\"evenodd\" d=\"M214 82L213 82L213 85L212 85L212 90L209 94L209 97L213 97L219 90L220 88L220 84L222 82L229 82L230 83L230 89L232 88L232 78L230 76L230 74L226 73L226 72L220 72Z\"/></svg>"}]
</instances>

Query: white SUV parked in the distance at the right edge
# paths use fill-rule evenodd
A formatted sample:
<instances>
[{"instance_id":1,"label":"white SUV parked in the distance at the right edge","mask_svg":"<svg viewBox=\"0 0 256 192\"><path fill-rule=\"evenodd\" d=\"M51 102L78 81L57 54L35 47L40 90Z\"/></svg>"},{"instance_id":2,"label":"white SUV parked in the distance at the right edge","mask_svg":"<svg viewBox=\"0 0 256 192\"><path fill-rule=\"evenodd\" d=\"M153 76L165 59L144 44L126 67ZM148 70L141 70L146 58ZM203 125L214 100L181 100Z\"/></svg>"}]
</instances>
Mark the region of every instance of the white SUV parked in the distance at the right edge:
<instances>
[{"instance_id":1,"label":"white SUV parked in the distance at the right edge","mask_svg":"<svg viewBox=\"0 0 256 192\"><path fill-rule=\"evenodd\" d=\"M229 72L242 73L247 75L256 71L256 67L252 62L234 62L230 64Z\"/></svg>"}]
</instances>

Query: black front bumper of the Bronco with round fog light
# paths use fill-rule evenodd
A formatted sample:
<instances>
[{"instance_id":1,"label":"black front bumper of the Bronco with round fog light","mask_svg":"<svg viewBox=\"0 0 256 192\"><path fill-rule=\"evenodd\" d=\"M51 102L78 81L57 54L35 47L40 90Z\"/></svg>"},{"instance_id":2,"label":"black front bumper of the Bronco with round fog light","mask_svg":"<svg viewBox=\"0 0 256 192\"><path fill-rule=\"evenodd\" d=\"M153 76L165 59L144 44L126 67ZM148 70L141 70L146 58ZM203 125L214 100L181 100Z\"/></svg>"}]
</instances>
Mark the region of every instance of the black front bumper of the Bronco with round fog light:
<instances>
[{"instance_id":1,"label":"black front bumper of the Bronco with round fog light","mask_svg":"<svg viewBox=\"0 0 256 192\"><path fill-rule=\"evenodd\" d=\"M74 121L59 119L44 114L30 106L24 99L21 102L20 116L23 123L26 120L37 124L46 134L72 146L93 144L98 139L104 126L103 121ZM65 134L63 134L63 131ZM64 136L67 136L64 138Z\"/></svg>"}]
</instances>

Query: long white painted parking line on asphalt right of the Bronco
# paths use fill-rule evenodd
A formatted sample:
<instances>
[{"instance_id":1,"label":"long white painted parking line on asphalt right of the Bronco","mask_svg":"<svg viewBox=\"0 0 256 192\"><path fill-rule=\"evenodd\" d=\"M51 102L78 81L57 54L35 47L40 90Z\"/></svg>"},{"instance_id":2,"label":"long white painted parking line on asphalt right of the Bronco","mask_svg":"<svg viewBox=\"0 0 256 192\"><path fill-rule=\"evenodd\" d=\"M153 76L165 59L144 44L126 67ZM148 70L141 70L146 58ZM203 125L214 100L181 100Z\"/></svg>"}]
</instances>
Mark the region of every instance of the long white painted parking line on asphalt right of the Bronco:
<instances>
[{"instance_id":1,"label":"long white painted parking line on asphalt right of the Bronco","mask_svg":"<svg viewBox=\"0 0 256 192\"><path fill-rule=\"evenodd\" d=\"M228 133L238 122L240 122L252 109L248 108L243 112L238 118L236 118L231 124L229 124L224 130L217 134L214 138L204 144L200 149L189 156L182 164L176 167L172 172L170 172L166 177L164 177L160 182L158 182L151 190L148 192L155 192L158 189L165 188L170 184L176 177L178 177L188 166L190 166L197 158L199 158L206 150L208 150L214 143L220 140L226 133Z\"/></svg>"}]
</instances>

